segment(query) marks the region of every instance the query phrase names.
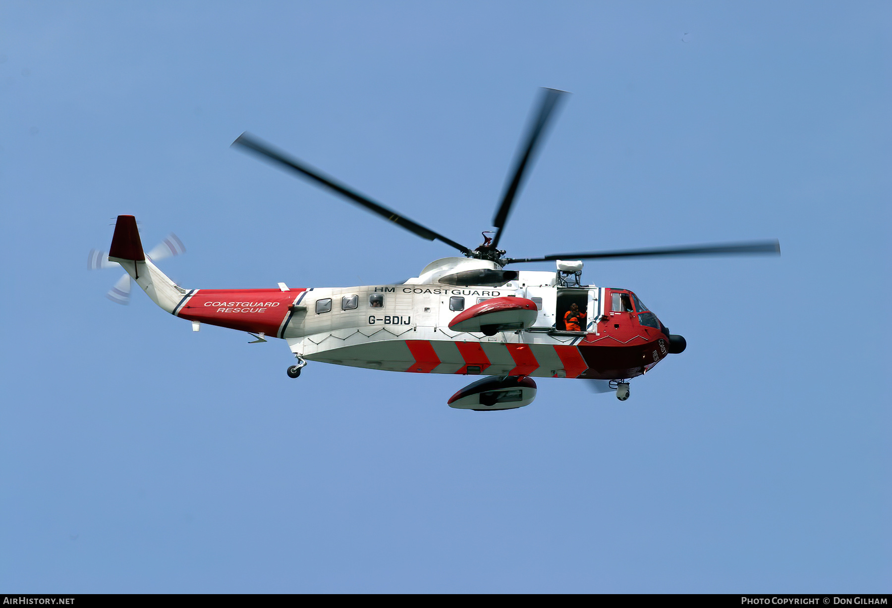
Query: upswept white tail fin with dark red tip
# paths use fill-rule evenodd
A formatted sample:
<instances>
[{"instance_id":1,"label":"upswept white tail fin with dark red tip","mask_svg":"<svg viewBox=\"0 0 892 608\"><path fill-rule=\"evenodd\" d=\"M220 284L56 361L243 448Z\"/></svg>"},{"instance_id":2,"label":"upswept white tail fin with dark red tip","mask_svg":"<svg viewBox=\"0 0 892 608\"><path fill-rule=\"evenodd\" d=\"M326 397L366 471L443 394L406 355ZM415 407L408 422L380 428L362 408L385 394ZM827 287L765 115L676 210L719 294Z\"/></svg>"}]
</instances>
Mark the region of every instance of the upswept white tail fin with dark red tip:
<instances>
[{"instance_id":1,"label":"upswept white tail fin with dark red tip","mask_svg":"<svg viewBox=\"0 0 892 608\"><path fill-rule=\"evenodd\" d=\"M145 257L133 216L118 216L114 236L111 237L109 261L118 262L124 267L153 302L171 314L187 293Z\"/></svg>"}]
</instances>

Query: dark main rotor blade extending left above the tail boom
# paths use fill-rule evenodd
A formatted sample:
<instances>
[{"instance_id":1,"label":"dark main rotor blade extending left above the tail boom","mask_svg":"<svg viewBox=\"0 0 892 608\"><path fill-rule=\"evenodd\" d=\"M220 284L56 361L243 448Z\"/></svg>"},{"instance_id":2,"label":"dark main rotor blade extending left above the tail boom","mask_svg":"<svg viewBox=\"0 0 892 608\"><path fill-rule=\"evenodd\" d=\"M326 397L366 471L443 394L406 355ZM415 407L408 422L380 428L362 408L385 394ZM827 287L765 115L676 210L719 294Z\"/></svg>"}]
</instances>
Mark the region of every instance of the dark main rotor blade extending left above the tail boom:
<instances>
[{"instance_id":1,"label":"dark main rotor blade extending left above the tail boom","mask_svg":"<svg viewBox=\"0 0 892 608\"><path fill-rule=\"evenodd\" d=\"M318 185L325 186L329 190L332 190L335 193L340 194L344 198L358 204L360 207L363 207L371 211L372 213L376 213L382 218L388 219L398 226L402 226L406 230L409 230L410 233L417 234L423 239L427 239L428 241L437 240L445 242L446 244L455 247L462 253L469 254L471 252L464 245L452 241L442 234L435 233L430 228L421 226L420 224L418 224L417 222L413 222L409 218L403 218L396 211L387 209L381 203L373 201L368 198L368 196L352 190L347 185L341 184L340 182L335 180L334 177L326 176L326 174L320 171L318 168L310 167L310 165L302 163L300 160L288 156L287 154L285 154L285 152L281 152L273 146L260 141L260 139L250 136L247 132L244 132L242 135L238 136L238 138L235 140L235 142L232 143L232 145L242 146L243 148L250 150L251 152L260 154L260 156L264 157L266 160L272 160L285 168L290 168L299 176L309 178L311 181L316 182Z\"/></svg>"}]
</instances>

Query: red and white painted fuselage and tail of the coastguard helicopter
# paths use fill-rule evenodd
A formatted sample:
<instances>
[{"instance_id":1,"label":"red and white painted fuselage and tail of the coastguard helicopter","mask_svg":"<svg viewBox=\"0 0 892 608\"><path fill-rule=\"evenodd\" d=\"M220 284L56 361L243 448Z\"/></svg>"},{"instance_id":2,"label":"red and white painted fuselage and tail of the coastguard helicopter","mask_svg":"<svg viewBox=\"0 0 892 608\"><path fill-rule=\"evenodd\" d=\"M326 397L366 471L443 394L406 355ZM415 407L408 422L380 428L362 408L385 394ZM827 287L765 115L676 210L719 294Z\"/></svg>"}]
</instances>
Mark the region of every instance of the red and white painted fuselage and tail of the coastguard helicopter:
<instances>
[{"instance_id":1,"label":"red and white painted fuselage and tail of the coastguard helicopter","mask_svg":"<svg viewBox=\"0 0 892 608\"><path fill-rule=\"evenodd\" d=\"M118 217L108 259L196 331L201 324L219 325L258 341L283 339L301 362L413 374L623 381L645 374L673 349L668 330L632 292L560 286L555 272L519 271L499 287L416 277L356 287L280 283L274 289L189 290L145 257L133 216ZM466 261L438 259L425 271L447 276ZM584 331L563 325L574 303L587 319ZM534 385L532 390L534 396Z\"/></svg>"}]
</instances>

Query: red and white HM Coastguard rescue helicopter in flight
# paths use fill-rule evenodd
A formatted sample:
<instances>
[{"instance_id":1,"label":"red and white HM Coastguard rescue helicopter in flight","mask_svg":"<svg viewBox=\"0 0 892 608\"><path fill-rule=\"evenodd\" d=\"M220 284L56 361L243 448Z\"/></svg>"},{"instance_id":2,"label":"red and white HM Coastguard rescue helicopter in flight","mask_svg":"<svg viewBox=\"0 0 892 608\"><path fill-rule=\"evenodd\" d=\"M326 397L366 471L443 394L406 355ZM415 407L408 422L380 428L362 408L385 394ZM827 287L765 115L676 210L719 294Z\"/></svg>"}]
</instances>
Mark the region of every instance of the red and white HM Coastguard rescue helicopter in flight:
<instances>
[{"instance_id":1,"label":"red and white HM Coastguard rescue helicopter in flight","mask_svg":"<svg viewBox=\"0 0 892 608\"><path fill-rule=\"evenodd\" d=\"M117 218L106 256L91 251L91 264L120 265L158 306L191 322L250 333L252 343L284 340L297 378L308 362L410 374L483 376L447 404L475 411L506 410L533 402L533 378L576 378L624 401L629 382L669 355L685 339L669 329L631 290L582 284L583 260L666 256L780 254L780 242L731 242L625 251L560 253L510 258L499 244L508 216L566 92L543 88L518 148L494 217L474 249L385 207L247 132L233 146L416 234L458 250L436 259L403 283L352 287L186 289L155 266L158 253L143 251L136 218ZM490 236L491 234L491 236ZM168 246L171 254L182 243ZM165 251L168 253L168 251ZM554 262L555 271L507 269ZM113 291L113 290L112 290ZM114 300L114 298L112 298ZM118 299L120 301L120 299ZM122 302L123 303L123 302Z\"/></svg>"}]
</instances>

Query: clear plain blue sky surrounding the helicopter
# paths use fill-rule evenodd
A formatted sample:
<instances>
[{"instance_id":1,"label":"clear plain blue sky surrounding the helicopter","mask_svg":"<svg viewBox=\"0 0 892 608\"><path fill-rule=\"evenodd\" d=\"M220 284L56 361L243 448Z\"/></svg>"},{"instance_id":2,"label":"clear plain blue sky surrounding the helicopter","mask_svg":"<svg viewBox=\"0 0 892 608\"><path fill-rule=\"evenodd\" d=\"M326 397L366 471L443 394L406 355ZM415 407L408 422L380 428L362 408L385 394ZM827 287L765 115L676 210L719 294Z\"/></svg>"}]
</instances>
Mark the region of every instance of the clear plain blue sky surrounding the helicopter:
<instances>
[{"instance_id":1,"label":"clear plain blue sky surrounding the helicopter","mask_svg":"<svg viewBox=\"0 0 892 608\"><path fill-rule=\"evenodd\" d=\"M888 592L887 3L0 6L0 587ZM189 288L401 281L450 255L244 130L475 245L538 86L573 93L508 255L616 260L688 349L624 403L310 364L88 273L118 214ZM532 265L530 269L550 269ZM880 308L878 308L880 307Z\"/></svg>"}]
</instances>

